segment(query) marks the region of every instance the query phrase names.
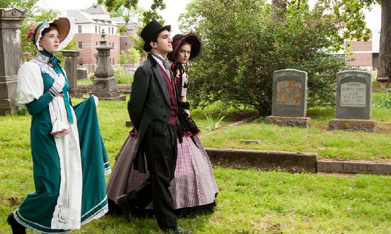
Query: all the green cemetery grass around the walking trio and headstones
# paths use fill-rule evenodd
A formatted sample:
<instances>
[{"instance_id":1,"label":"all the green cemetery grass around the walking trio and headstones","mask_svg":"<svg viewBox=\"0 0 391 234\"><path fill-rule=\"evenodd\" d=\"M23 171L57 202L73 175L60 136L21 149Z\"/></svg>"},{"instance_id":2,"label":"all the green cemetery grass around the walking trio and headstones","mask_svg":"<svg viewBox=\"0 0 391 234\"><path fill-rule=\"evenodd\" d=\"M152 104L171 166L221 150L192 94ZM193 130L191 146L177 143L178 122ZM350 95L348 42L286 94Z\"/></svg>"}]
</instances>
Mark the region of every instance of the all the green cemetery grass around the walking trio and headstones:
<instances>
[{"instance_id":1,"label":"all the green cemetery grass around the walking trio and headstones","mask_svg":"<svg viewBox=\"0 0 391 234\"><path fill-rule=\"evenodd\" d=\"M127 96L129 99L129 95ZM73 99L74 104L82 101ZM130 128L127 102L100 101L98 116L111 167ZM220 107L210 106L217 119ZM243 115L243 113L245 115ZM220 125L250 116L252 110L225 112ZM208 126L204 111L191 111L201 130ZM391 109L372 108L378 132L328 131L332 108L310 108L311 128L250 124L222 128L201 138L205 147L317 152L319 158L391 161ZM30 153L31 116L0 117L0 234L23 197L34 191ZM205 132L204 132L205 133ZM261 140L244 145L241 139ZM179 218L178 224L197 234L388 234L391 233L390 176L311 174L214 167L219 194L215 213ZM107 176L109 179L109 175ZM27 233L32 233L30 230ZM106 215L74 233L157 234L154 219Z\"/></svg>"}]
</instances>

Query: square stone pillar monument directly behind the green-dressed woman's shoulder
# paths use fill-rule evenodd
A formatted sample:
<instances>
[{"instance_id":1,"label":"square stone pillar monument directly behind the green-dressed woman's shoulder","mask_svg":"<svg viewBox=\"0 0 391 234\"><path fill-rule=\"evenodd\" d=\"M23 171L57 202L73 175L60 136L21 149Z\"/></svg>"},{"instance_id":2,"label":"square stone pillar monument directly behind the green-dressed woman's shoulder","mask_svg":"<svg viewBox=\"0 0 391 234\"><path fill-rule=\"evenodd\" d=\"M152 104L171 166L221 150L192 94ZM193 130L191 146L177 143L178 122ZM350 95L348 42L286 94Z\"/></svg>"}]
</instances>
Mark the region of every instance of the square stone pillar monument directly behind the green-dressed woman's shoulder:
<instances>
[{"instance_id":1,"label":"square stone pillar monument directly behind the green-dressed woman's shoulder","mask_svg":"<svg viewBox=\"0 0 391 234\"><path fill-rule=\"evenodd\" d=\"M80 55L78 50L62 50L64 55L64 69L69 83L69 95L75 98L83 98L83 93L77 88L77 58Z\"/></svg>"}]
</instances>

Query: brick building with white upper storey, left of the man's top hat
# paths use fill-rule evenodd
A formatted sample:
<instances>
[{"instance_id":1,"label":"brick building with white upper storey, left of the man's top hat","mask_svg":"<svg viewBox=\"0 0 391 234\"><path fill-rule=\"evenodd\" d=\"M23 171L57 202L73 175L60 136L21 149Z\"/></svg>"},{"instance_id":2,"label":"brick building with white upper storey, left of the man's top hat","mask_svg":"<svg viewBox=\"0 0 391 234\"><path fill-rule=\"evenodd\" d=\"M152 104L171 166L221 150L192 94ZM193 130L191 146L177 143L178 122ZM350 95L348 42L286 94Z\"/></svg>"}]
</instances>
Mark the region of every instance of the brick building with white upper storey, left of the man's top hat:
<instances>
[{"instance_id":1,"label":"brick building with white upper storey, left of the man's top hat","mask_svg":"<svg viewBox=\"0 0 391 234\"><path fill-rule=\"evenodd\" d=\"M119 64L120 51L126 51L133 46L129 35L136 35L137 23L134 21L126 23L122 18L110 18L110 13L102 5L96 8L91 6L86 11L66 10L66 15L75 19L78 28L74 39L80 49L79 64L97 64L98 51L95 46L101 40L103 30L108 45L113 47L110 51L111 64ZM118 26L126 26L127 33L116 35Z\"/></svg>"}]
</instances>

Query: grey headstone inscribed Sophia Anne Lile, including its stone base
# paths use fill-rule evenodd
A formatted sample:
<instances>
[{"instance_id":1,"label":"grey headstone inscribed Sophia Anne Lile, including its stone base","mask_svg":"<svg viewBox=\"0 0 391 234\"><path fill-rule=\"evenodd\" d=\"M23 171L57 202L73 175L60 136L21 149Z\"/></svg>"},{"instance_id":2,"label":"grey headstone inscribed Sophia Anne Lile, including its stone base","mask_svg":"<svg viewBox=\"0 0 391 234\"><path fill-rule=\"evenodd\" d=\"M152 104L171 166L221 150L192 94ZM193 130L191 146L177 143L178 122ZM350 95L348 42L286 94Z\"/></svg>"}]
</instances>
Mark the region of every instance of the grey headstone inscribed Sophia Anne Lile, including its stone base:
<instances>
[{"instance_id":1,"label":"grey headstone inscribed Sophia Anne Lile, including its stone base","mask_svg":"<svg viewBox=\"0 0 391 234\"><path fill-rule=\"evenodd\" d=\"M328 129L377 131L371 120L372 76L367 71L337 73L336 117L328 122Z\"/></svg>"}]
</instances>

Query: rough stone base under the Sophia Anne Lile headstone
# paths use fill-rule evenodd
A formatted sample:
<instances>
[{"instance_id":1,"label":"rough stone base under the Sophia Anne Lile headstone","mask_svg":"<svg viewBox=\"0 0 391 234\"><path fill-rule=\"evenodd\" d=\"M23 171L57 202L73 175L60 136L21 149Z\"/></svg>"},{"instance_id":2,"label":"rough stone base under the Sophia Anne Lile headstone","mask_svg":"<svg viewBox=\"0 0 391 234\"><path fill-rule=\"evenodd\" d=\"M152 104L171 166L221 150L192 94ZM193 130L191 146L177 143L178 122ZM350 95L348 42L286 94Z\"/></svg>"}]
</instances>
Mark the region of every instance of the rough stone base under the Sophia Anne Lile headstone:
<instances>
[{"instance_id":1,"label":"rough stone base under the Sophia Anne Lile headstone","mask_svg":"<svg viewBox=\"0 0 391 234\"><path fill-rule=\"evenodd\" d=\"M364 119L332 119L328 121L328 130L345 130L345 131L377 131L376 120L364 120Z\"/></svg>"}]
</instances>

